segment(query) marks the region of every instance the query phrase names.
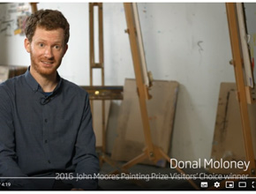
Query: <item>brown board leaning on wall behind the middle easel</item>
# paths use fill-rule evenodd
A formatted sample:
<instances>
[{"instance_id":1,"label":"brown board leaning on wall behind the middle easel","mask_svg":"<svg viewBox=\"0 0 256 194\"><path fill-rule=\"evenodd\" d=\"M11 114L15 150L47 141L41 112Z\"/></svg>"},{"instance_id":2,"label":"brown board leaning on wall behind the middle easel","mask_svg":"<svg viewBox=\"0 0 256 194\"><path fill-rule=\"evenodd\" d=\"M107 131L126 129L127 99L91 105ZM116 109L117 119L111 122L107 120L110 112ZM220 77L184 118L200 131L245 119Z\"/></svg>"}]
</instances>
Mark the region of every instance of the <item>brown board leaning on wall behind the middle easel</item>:
<instances>
[{"instance_id":1,"label":"brown board leaning on wall behind the middle easel","mask_svg":"<svg viewBox=\"0 0 256 194\"><path fill-rule=\"evenodd\" d=\"M124 101L120 108L117 123L117 139L112 151L113 160L131 160L145 147L145 138L139 110L139 98L134 79L126 79ZM155 146L164 153L169 152L177 103L178 83L176 81L154 81L150 93L153 98L147 101L147 111L151 135ZM162 160L158 166L164 166ZM149 160L144 163L153 164Z\"/></svg>"}]
</instances>

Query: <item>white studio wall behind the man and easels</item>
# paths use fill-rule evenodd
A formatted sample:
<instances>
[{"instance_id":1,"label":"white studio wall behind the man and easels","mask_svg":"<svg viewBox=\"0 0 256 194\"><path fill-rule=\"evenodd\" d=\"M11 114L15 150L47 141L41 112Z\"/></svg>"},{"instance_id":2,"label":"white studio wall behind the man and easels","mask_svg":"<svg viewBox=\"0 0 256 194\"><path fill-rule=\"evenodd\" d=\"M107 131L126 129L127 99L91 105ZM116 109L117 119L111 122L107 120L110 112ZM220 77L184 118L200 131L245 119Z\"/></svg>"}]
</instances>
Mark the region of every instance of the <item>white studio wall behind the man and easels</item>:
<instances>
[{"instance_id":1,"label":"white studio wall behind the man and easels","mask_svg":"<svg viewBox=\"0 0 256 194\"><path fill-rule=\"evenodd\" d=\"M88 4L38 4L63 11L71 24L69 50L60 74L89 85ZM106 85L134 78L123 4L103 4ZM147 58L154 79L180 83L170 155L178 160L209 158L220 83L234 82L225 4L139 3ZM28 65L24 37L1 39L0 63ZM1 42L1 45L2 45ZM7 44L5 44L7 47ZM100 83L99 81L95 83Z\"/></svg>"}]
</instances>

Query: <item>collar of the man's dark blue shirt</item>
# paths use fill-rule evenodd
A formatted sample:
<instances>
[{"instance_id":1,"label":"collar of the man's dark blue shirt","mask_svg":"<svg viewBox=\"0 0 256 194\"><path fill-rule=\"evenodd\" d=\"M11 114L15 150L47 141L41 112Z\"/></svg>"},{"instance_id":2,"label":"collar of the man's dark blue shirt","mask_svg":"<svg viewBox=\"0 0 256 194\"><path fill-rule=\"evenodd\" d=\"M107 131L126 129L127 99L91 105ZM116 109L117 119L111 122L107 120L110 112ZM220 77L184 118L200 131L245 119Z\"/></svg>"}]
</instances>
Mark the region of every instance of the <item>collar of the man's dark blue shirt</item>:
<instances>
[{"instance_id":1,"label":"collar of the man's dark blue shirt","mask_svg":"<svg viewBox=\"0 0 256 194\"><path fill-rule=\"evenodd\" d=\"M59 76L58 72L56 72L56 77L59 81L53 93L56 93L56 91L59 90L63 80L63 78ZM26 83L31 87L34 93L37 92L39 89L41 89L41 86L37 83L37 81L34 79L34 77L30 73L30 66L26 70L25 78L26 78Z\"/></svg>"}]
</instances>

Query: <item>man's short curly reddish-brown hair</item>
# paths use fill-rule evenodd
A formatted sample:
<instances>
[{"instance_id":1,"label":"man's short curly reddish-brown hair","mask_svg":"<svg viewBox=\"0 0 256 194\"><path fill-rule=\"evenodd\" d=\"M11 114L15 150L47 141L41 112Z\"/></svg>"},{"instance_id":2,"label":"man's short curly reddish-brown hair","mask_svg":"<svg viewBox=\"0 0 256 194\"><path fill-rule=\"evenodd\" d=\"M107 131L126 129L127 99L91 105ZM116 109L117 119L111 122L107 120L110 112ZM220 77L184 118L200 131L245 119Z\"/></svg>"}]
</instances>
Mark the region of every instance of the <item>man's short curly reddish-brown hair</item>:
<instances>
[{"instance_id":1,"label":"man's short curly reddish-brown hair","mask_svg":"<svg viewBox=\"0 0 256 194\"><path fill-rule=\"evenodd\" d=\"M34 12L26 19L25 34L28 41L32 41L36 27L42 27L46 30L64 29L64 44L70 38L70 25L67 19L60 11L40 10Z\"/></svg>"}]
</instances>

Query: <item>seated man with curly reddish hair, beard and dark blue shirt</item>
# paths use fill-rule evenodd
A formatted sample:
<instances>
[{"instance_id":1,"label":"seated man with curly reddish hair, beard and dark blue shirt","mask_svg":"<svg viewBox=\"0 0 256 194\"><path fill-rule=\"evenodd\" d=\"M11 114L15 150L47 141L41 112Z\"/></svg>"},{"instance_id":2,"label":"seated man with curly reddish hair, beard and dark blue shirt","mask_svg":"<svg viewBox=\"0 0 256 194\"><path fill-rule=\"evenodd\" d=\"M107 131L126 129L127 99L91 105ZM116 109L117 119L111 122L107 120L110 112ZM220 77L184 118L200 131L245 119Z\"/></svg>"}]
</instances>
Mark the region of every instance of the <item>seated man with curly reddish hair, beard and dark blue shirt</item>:
<instances>
[{"instance_id":1,"label":"seated man with curly reddish hair, beard and dark blue shirt","mask_svg":"<svg viewBox=\"0 0 256 194\"><path fill-rule=\"evenodd\" d=\"M87 178L99 172L89 97L57 73L69 23L60 11L36 11L25 33L31 65L0 85L1 183L10 190L95 190L97 180Z\"/></svg>"}]
</instances>

